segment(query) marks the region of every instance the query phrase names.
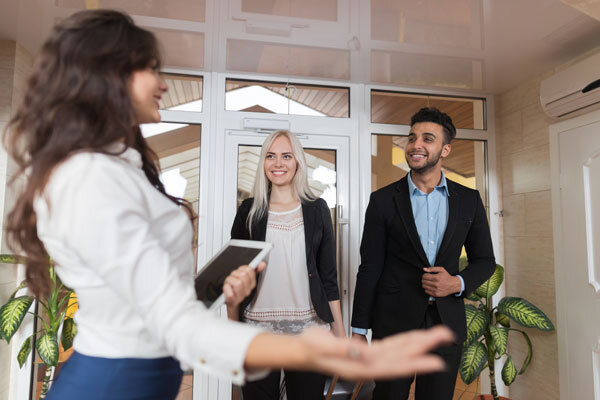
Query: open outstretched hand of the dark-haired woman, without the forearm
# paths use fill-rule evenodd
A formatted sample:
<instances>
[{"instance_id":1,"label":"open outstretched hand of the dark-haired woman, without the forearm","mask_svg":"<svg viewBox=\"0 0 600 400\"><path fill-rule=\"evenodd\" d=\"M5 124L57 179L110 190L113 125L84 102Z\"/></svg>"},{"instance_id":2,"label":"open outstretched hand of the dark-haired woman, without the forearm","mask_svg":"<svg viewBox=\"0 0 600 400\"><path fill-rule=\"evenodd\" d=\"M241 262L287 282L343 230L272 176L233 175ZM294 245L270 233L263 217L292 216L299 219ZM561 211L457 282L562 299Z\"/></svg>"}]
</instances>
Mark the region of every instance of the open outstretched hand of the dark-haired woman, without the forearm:
<instances>
[{"instance_id":1,"label":"open outstretched hand of the dark-haired woman, without the forearm","mask_svg":"<svg viewBox=\"0 0 600 400\"><path fill-rule=\"evenodd\" d=\"M371 345L366 341L335 338L318 328L307 329L300 338L316 351L309 369L338 374L346 379L386 379L415 373L442 371L443 360L429 352L453 340L446 327L400 333Z\"/></svg>"}]
</instances>

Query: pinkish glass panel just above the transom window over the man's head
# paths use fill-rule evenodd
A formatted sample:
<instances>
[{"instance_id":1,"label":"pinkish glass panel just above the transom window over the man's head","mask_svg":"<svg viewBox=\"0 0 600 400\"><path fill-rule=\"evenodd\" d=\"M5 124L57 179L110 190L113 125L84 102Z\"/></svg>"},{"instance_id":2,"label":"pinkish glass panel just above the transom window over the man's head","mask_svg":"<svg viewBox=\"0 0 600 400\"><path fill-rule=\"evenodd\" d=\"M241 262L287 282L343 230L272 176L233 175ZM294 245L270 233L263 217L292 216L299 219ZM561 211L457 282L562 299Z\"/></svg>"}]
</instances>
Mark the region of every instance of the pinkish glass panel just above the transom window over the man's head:
<instances>
[{"instance_id":1,"label":"pinkish glass panel just above the transom window over the man's head","mask_svg":"<svg viewBox=\"0 0 600 400\"><path fill-rule=\"evenodd\" d=\"M483 89L483 61L374 50L371 80L374 82Z\"/></svg>"}]
</instances>

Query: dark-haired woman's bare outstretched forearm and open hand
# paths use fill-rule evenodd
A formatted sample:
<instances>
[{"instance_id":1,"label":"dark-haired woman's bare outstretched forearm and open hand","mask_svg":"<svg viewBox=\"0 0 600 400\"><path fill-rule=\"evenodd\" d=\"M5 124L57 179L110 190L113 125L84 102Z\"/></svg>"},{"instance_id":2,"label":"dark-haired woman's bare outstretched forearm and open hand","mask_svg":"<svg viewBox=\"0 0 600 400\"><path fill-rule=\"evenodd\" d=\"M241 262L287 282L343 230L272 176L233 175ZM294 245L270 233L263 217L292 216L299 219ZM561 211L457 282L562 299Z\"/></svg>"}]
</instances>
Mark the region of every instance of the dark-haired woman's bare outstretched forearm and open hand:
<instances>
[{"instance_id":1,"label":"dark-haired woman's bare outstretched forearm and open hand","mask_svg":"<svg viewBox=\"0 0 600 400\"><path fill-rule=\"evenodd\" d=\"M261 333L248 346L244 366L338 374L347 379L392 378L444 369L429 352L452 340L448 328L411 331L374 341L337 338L321 328L299 336Z\"/></svg>"}]
</instances>

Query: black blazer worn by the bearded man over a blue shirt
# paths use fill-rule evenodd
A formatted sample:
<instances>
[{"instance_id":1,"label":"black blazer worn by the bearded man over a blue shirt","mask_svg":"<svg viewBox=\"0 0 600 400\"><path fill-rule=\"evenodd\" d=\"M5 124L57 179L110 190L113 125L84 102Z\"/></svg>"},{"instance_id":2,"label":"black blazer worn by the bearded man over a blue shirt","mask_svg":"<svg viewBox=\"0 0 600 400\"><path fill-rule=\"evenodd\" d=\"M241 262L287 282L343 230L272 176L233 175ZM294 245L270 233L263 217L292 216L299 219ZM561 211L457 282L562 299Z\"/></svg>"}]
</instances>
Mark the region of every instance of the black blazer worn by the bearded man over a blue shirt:
<instances>
[{"instance_id":1,"label":"black blazer worn by the bearded man over a blue shirt","mask_svg":"<svg viewBox=\"0 0 600 400\"><path fill-rule=\"evenodd\" d=\"M460 273L465 281L465 297L492 275L496 261L479 193L447 182L448 225L435 265L457 275L465 246L469 265ZM374 338L419 328L429 299L421 277L423 268L430 265L415 225L406 177L371 194L360 253L352 326L371 328ZM458 343L463 342L463 299L452 294L436 301L442 322L454 331Z\"/></svg>"}]
</instances>

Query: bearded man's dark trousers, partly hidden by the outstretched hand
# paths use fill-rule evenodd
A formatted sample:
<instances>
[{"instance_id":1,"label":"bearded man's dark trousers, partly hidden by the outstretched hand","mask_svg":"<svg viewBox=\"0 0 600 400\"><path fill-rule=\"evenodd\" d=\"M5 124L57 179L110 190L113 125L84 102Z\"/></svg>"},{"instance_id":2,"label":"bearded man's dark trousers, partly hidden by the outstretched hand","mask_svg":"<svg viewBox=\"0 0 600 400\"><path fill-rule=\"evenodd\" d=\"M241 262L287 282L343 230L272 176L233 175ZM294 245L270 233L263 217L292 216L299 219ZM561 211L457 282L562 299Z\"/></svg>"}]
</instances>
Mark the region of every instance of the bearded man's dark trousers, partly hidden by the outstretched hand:
<instances>
[{"instance_id":1,"label":"bearded man's dark trousers, partly hidden by the outstretched hand","mask_svg":"<svg viewBox=\"0 0 600 400\"><path fill-rule=\"evenodd\" d=\"M427 307L420 328L431 328L442 323L435 302ZM446 371L435 374L417 375L415 400L452 400L456 375L462 355L462 343L442 347L433 351L446 362ZM373 400L406 400L414 376L389 381L375 381Z\"/></svg>"}]
</instances>

